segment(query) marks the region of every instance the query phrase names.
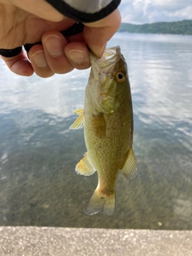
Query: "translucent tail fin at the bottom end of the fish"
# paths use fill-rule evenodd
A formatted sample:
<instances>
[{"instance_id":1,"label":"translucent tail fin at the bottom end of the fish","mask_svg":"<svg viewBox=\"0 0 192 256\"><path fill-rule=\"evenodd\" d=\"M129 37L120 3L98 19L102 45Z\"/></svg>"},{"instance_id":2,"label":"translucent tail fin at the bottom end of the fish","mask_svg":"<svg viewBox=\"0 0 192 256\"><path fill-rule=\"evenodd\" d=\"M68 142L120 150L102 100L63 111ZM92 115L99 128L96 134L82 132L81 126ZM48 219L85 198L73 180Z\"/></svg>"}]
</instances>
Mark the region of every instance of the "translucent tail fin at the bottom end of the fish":
<instances>
[{"instance_id":1,"label":"translucent tail fin at the bottom end of the fish","mask_svg":"<svg viewBox=\"0 0 192 256\"><path fill-rule=\"evenodd\" d=\"M86 214L93 215L103 212L106 215L114 214L115 191L114 194L102 194L97 188L86 204Z\"/></svg>"}]
</instances>

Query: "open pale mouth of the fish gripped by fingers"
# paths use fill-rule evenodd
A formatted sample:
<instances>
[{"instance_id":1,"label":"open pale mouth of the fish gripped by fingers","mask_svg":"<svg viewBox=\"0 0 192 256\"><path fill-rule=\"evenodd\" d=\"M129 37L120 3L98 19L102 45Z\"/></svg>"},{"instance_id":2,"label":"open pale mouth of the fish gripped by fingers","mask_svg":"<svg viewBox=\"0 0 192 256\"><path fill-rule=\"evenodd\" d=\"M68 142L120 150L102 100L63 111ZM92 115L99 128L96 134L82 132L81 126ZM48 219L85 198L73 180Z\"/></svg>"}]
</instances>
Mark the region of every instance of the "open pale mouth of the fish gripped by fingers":
<instances>
[{"instance_id":1,"label":"open pale mouth of the fish gripped by fingers","mask_svg":"<svg viewBox=\"0 0 192 256\"><path fill-rule=\"evenodd\" d=\"M98 59L93 53L90 53L90 64L94 72L94 78L99 75L110 75L113 73L114 65L122 57L120 46L106 48L102 58Z\"/></svg>"}]
</instances>

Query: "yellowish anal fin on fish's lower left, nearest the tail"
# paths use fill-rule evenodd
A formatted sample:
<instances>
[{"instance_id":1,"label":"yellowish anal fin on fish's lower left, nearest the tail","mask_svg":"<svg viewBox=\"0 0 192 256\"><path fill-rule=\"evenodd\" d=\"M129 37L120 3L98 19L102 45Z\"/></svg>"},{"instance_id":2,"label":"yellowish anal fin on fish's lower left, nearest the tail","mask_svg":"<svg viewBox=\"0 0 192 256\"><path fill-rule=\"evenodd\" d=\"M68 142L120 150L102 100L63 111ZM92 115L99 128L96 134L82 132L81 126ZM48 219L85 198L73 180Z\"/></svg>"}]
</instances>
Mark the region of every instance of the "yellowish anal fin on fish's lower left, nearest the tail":
<instances>
[{"instance_id":1,"label":"yellowish anal fin on fish's lower left, nearest the tail","mask_svg":"<svg viewBox=\"0 0 192 256\"><path fill-rule=\"evenodd\" d=\"M77 174L81 174L84 176L90 176L94 174L95 169L92 162L90 161L89 154L87 152L86 154L84 154L82 160L78 162L77 166L75 167L75 171Z\"/></svg>"}]
</instances>

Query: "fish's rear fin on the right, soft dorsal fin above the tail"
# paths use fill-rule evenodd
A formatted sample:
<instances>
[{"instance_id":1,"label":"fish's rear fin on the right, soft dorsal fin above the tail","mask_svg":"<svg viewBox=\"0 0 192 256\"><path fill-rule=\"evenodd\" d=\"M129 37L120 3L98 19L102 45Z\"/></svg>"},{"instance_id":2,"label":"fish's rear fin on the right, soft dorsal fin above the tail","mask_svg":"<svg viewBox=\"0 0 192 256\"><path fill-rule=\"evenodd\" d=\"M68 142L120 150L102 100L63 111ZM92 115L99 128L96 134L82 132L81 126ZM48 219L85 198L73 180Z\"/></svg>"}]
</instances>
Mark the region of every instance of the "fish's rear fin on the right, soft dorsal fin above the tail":
<instances>
[{"instance_id":1,"label":"fish's rear fin on the right, soft dorsal fin above the tail","mask_svg":"<svg viewBox=\"0 0 192 256\"><path fill-rule=\"evenodd\" d=\"M126 158L126 162L122 167L122 173L128 178L130 181L133 181L138 176L138 166L137 162L134 158L134 151L131 148Z\"/></svg>"}]
</instances>

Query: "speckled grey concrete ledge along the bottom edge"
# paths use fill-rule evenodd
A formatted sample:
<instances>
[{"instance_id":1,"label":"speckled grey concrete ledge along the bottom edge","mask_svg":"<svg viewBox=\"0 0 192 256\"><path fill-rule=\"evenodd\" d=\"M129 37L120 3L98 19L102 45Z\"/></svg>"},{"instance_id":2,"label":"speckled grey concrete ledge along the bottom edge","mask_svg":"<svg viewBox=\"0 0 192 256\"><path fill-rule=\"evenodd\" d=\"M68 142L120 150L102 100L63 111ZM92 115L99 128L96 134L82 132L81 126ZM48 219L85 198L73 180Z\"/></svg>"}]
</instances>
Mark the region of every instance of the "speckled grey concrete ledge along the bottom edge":
<instances>
[{"instance_id":1,"label":"speckled grey concrete ledge along the bottom edge","mask_svg":"<svg viewBox=\"0 0 192 256\"><path fill-rule=\"evenodd\" d=\"M190 256L192 231L2 226L0 255Z\"/></svg>"}]
</instances>

